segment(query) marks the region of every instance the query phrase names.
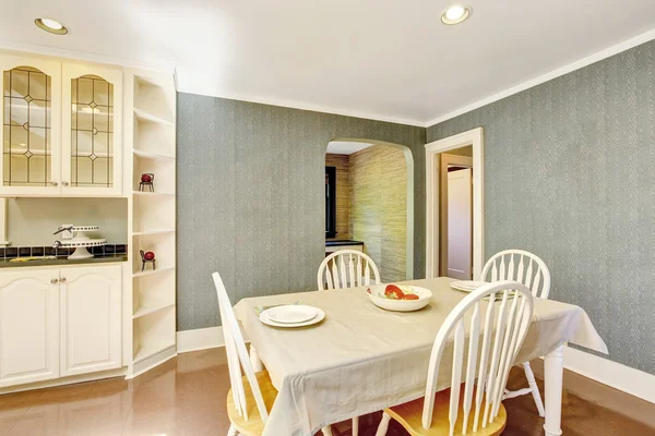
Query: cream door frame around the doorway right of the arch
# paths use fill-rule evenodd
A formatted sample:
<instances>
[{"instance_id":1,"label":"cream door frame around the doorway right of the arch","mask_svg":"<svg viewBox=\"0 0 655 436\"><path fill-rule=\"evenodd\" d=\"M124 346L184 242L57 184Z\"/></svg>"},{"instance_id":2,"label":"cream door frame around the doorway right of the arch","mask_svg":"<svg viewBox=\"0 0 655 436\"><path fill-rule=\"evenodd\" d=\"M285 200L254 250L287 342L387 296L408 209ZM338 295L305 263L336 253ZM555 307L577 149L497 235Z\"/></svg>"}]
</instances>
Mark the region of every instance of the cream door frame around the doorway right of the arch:
<instances>
[{"instance_id":1,"label":"cream door frame around the doorway right of the arch","mask_svg":"<svg viewBox=\"0 0 655 436\"><path fill-rule=\"evenodd\" d=\"M441 153L473 147L473 278L479 279L485 253L484 238L484 130L467 132L426 144L426 278L439 276L439 155Z\"/></svg>"}]
</instances>

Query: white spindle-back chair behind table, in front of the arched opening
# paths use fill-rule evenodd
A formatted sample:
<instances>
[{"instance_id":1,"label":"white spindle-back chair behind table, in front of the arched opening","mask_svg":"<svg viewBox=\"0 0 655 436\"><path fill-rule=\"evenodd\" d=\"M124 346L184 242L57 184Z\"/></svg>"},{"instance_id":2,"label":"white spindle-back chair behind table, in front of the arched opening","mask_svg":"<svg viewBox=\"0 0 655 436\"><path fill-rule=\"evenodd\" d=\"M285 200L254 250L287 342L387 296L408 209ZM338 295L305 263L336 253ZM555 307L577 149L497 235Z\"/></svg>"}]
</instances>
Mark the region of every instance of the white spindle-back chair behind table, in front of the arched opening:
<instances>
[{"instance_id":1,"label":"white spindle-back chair behind table, in front of the arched opening","mask_svg":"<svg viewBox=\"0 0 655 436\"><path fill-rule=\"evenodd\" d=\"M356 250L340 250L332 253L319 266L319 290L356 288L371 284L371 274L376 284L380 284L380 271L368 255ZM353 436L359 433L359 416L353 419ZM330 425L323 427L324 436L332 436Z\"/></svg>"}]
</instances>

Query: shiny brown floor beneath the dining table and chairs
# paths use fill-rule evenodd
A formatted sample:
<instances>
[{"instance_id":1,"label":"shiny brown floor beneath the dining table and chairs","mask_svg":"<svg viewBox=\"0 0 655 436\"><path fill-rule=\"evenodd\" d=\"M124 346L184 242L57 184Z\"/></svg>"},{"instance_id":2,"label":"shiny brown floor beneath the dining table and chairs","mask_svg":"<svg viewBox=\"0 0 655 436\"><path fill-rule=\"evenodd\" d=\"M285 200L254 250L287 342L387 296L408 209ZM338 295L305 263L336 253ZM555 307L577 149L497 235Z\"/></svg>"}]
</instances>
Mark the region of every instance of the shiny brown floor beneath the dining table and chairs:
<instances>
[{"instance_id":1,"label":"shiny brown floor beneath the dining table and chairs","mask_svg":"<svg viewBox=\"0 0 655 436\"><path fill-rule=\"evenodd\" d=\"M538 374L539 362L535 362ZM510 387L524 384L515 371ZM0 396L0 436L209 436L226 435L228 373L222 349L180 354L126 382L111 378ZM655 435L655 404L567 373L564 435ZM505 401L504 435L543 435L528 397ZM361 436L374 435L379 414L362 417ZM349 435L349 423L335 425ZM393 424L389 436L407 435ZM284 436L284 435L279 435Z\"/></svg>"}]
</instances>

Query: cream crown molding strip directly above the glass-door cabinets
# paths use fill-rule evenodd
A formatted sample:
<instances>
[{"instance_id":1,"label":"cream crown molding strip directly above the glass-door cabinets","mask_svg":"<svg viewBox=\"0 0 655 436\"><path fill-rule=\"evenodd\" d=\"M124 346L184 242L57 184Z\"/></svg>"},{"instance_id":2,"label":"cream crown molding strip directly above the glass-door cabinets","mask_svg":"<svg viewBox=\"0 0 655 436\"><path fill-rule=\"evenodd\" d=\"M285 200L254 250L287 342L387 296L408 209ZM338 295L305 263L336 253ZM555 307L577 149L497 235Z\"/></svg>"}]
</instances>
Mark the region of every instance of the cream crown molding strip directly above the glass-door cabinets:
<instances>
[{"instance_id":1,"label":"cream crown molding strip directly above the glass-door cabinets","mask_svg":"<svg viewBox=\"0 0 655 436\"><path fill-rule=\"evenodd\" d=\"M0 49L22 51L22 52L26 52L26 53L43 55L43 56L49 56L49 57L68 58L68 59L74 59L74 60L79 60L79 61L86 61L86 62L120 65L120 66L127 66L127 68L132 68L132 69L138 69L138 70L156 71L156 72L167 73L167 74L175 73L175 66L172 66L172 65L148 64L145 62L138 62L138 61L133 61L130 59L114 58L114 57L104 56L104 55L90 53L90 52L76 51L76 50L68 50L68 49L62 49L62 48L40 46L40 45L34 45L34 44L15 43L15 41L10 41L10 40L4 40L4 39L0 39Z\"/></svg>"}]
</instances>

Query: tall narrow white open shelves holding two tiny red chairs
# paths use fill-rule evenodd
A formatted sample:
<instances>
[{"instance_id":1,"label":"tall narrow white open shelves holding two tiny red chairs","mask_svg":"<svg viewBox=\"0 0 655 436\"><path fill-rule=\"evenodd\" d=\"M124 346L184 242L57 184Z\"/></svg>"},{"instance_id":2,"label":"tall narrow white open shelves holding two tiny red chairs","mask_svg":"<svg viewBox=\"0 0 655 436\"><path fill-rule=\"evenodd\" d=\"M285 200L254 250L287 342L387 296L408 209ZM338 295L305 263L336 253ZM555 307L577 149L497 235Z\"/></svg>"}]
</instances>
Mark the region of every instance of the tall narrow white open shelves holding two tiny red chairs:
<instances>
[{"instance_id":1,"label":"tall narrow white open shelves holding two tiny red chairs","mask_svg":"<svg viewBox=\"0 0 655 436\"><path fill-rule=\"evenodd\" d=\"M131 129L130 253L132 347L129 376L177 355L176 347L176 92L171 75L130 71L126 108ZM131 140L131 141L130 141ZM153 173L154 192L140 191L141 174ZM156 269L142 271L140 250L155 253Z\"/></svg>"}]
</instances>

